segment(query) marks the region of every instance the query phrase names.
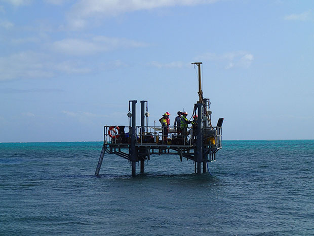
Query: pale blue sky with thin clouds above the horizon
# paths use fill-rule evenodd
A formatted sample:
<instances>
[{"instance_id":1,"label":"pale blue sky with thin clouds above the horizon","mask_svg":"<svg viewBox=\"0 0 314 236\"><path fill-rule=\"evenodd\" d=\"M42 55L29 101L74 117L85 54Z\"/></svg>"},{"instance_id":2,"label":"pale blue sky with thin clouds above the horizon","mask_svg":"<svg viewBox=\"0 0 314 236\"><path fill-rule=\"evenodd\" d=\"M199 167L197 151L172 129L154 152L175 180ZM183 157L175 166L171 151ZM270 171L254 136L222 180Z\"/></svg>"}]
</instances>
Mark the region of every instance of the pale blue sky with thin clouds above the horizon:
<instances>
[{"instance_id":1,"label":"pale blue sky with thin clouds above the horizon","mask_svg":"<svg viewBox=\"0 0 314 236\"><path fill-rule=\"evenodd\" d=\"M312 0L0 0L0 142L102 141L148 100L223 140L314 139Z\"/></svg>"}]
</instances>

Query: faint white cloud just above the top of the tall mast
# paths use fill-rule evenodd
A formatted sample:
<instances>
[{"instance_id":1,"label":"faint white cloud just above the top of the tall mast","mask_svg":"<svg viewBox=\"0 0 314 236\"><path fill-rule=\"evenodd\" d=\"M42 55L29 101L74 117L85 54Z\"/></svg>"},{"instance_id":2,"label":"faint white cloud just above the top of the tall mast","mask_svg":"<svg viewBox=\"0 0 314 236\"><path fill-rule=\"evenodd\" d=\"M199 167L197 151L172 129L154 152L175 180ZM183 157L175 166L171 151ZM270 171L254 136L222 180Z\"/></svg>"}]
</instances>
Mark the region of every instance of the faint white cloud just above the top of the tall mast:
<instances>
[{"instance_id":1,"label":"faint white cloud just above the top of the tall mast","mask_svg":"<svg viewBox=\"0 0 314 236\"><path fill-rule=\"evenodd\" d=\"M254 60L254 56L245 51L227 52L222 54L208 52L195 57L195 60L215 61L221 63L224 68L228 70L232 68L249 68Z\"/></svg>"}]
</instances>

